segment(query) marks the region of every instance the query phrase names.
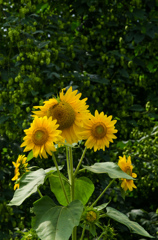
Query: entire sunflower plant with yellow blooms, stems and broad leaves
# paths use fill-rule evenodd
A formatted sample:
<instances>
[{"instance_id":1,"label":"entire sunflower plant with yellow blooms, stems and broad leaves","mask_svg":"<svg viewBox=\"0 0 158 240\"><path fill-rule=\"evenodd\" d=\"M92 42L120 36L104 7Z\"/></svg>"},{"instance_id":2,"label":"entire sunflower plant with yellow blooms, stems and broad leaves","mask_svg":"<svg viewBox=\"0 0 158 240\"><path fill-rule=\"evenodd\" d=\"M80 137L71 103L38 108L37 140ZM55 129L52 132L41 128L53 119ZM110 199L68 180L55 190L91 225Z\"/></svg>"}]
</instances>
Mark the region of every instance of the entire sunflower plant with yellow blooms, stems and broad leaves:
<instances>
[{"instance_id":1,"label":"entire sunflower plant with yellow blooms, stems and broad leaves","mask_svg":"<svg viewBox=\"0 0 158 240\"><path fill-rule=\"evenodd\" d=\"M131 157L126 159L125 155L119 157L118 164L100 162L90 166L83 165L86 151L105 151L105 147L109 148L109 144L117 138L117 120L112 120L111 115L107 116L97 110L92 115L86 103L87 98L81 99L81 95L72 87L62 89L58 98L52 97L45 101L43 106L34 107L31 126L24 130L25 136L21 144L21 147L25 147L23 152L29 154L27 159L25 155L20 155L17 161L13 162L15 176L12 180L16 181L14 189L17 189L9 206L20 206L32 194L39 194L39 198L33 202L32 228L41 240L68 240L70 237L72 240L83 240L87 231L98 239L102 236L106 238L108 231L112 234L111 239L114 239L113 228L103 226L102 218L113 219L133 233L153 238L141 225L110 207L109 203L97 206L100 198L116 179L120 180L121 188L125 192L137 188L134 184L137 175L133 173ZM55 154L58 148L66 151L65 166L58 165L58 156ZM77 164L73 158L76 148L80 148L82 152ZM34 166L35 170L31 168L30 161L38 157L50 158L50 167L43 169L37 165ZM64 168L66 174L62 172ZM93 201L91 196L95 185L86 176L87 171L94 175L108 175L110 179L105 189ZM41 191L41 186L47 180L50 195Z\"/></svg>"}]
</instances>

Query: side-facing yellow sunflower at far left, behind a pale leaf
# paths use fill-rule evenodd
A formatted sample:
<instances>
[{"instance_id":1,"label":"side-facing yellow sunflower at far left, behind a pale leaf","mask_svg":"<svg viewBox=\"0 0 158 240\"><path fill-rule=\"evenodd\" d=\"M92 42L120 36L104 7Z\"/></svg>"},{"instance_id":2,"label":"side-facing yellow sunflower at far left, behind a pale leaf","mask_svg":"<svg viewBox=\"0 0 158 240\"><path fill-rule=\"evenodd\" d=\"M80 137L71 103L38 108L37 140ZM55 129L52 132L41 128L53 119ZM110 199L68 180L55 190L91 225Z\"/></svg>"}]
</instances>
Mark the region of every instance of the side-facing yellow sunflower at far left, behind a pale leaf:
<instances>
[{"instance_id":1,"label":"side-facing yellow sunflower at far left, behind a pale leaf","mask_svg":"<svg viewBox=\"0 0 158 240\"><path fill-rule=\"evenodd\" d=\"M19 155L17 161L12 162L15 167L15 176L12 178L12 181L17 181L20 176L22 176L25 172L29 171L27 168L28 163L26 161L27 158L25 157L25 155ZM16 190L17 188L19 188L19 183L15 183L14 185L14 190Z\"/></svg>"}]
</instances>

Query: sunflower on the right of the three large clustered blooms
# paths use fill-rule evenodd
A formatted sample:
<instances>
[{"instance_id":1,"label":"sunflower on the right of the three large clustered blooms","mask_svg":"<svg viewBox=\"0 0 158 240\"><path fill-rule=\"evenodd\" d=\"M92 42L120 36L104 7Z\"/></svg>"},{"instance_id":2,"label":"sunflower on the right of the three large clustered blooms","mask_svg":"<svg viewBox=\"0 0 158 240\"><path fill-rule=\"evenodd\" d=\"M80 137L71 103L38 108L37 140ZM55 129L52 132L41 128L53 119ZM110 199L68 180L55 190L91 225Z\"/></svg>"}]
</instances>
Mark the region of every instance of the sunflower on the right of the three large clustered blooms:
<instances>
[{"instance_id":1,"label":"sunflower on the right of the three large clustered blooms","mask_svg":"<svg viewBox=\"0 0 158 240\"><path fill-rule=\"evenodd\" d=\"M114 133L117 133L114 124L116 120L111 121L112 116L107 117L103 112L100 114L95 111L95 116L91 116L90 120L84 123L82 130L82 138L87 139L85 146L87 148L93 148L97 150L103 149L105 146L109 147L109 142L113 142L113 139L117 138Z\"/></svg>"}]
</instances>

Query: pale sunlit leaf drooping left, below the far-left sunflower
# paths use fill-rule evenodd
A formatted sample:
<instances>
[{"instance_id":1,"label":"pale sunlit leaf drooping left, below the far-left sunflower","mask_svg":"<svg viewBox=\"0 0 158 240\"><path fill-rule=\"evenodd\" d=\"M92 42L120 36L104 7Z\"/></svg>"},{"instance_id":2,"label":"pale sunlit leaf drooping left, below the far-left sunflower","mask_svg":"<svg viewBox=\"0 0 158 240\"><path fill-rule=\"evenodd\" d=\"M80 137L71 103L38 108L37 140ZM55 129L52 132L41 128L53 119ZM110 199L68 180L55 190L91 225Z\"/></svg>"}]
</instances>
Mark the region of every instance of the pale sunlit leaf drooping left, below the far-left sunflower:
<instances>
[{"instance_id":1,"label":"pale sunlit leaf drooping left, below the far-left sunflower","mask_svg":"<svg viewBox=\"0 0 158 240\"><path fill-rule=\"evenodd\" d=\"M42 168L25 173L20 179L20 188L15 191L9 205L19 206L26 198L37 191L38 186L44 183L45 176L46 173Z\"/></svg>"}]
</instances>

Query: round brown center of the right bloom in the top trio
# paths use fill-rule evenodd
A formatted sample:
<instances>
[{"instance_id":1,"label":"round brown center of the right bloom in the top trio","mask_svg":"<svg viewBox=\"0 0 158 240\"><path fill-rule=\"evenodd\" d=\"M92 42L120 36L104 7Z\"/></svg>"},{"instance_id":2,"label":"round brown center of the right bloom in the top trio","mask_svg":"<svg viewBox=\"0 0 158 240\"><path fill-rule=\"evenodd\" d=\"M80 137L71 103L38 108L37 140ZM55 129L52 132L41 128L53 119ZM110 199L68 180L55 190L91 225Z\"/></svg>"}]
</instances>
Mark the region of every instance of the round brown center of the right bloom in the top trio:
<instances>
[{"instance_id":1,"label":"round brown center of the right bloom in the top trio","mask_svg":"<svg viewBox=\"0 0 158 240\"><path fill-rule=\"evenodd\" d=\"M92 133L93 137L95 137L97 139L101 139L106 135L107 127L105 126L104 123L98 122L93 125L91 133Z\"/></svg>"}]
</instances>

